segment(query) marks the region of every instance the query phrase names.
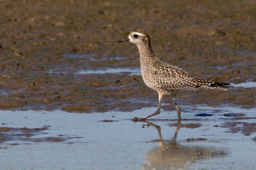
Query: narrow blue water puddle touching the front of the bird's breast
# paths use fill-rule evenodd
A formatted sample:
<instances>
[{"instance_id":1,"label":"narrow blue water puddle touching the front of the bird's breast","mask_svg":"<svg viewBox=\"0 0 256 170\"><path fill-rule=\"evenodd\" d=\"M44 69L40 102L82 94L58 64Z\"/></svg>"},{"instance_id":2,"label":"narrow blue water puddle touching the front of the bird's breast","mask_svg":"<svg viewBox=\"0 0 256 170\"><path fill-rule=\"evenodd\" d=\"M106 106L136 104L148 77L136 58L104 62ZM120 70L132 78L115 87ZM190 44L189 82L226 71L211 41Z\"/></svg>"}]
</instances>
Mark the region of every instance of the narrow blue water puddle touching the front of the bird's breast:
<instances>
[{"instance_id":1,"label":"narrow blue water puddle touching the front of the bird's breast","mask_svg":"<svg viewBox=\"0 0 256 170\"><path fill-rule=\"evenodd\" d=\"M127 74L127 75L141 75L138 67L116 67L96 70L80 70L77 74Z\"/></svg>"}]
</instances>

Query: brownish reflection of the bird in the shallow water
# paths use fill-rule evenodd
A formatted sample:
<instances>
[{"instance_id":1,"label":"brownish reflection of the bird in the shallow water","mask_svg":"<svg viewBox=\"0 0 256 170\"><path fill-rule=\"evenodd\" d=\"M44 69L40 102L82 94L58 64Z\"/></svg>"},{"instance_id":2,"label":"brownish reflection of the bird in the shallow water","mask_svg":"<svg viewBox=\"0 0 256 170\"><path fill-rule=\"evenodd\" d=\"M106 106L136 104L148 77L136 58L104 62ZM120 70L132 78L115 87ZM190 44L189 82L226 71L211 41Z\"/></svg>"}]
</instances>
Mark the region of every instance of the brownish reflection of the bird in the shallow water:
<instances>
[{"instance_id":1,"label":"brownish reflection of the bird in the shallow water","mask_svg":"<svg viewBox=\"0 0 256 170\"><path fill-rule=\"evenodd\" d=\"M227 151L222 148L179 145L179 143L176 143L177 134L180 129L179 126L171 140L163 140L159 125L152 122L144 122L157 129L159 147L147 154L143 169L186 169L189 164L196 160L210 159L227 154Z\"/></svg>"}]
</instances>

